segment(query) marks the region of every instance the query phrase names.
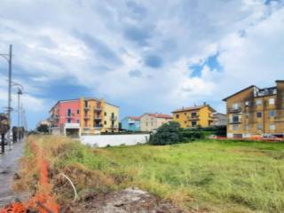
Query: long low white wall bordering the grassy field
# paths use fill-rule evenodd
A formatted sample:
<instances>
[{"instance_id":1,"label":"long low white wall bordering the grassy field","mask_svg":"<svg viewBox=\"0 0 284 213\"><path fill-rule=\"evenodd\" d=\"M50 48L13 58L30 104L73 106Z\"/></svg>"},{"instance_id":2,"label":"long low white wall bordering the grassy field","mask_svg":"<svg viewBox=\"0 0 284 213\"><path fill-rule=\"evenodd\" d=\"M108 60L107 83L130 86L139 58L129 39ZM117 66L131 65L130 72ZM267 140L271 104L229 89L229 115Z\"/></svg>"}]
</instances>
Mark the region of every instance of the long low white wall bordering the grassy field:
<instances>
[{"instance_id":1,"label":"long low white wall bordering the grassy field","mask_svg":"<svg viewBox=\"0 0 284 213\"><path fill-rule=\"evenodd\" d=\"M145 144L150 138L149 134L133 134L133 135L93 135L93 136L82 136L81 143L84 145L105 147L110 146L121 146L121 145L137 145Z\"/></svg>"}]
</instances>

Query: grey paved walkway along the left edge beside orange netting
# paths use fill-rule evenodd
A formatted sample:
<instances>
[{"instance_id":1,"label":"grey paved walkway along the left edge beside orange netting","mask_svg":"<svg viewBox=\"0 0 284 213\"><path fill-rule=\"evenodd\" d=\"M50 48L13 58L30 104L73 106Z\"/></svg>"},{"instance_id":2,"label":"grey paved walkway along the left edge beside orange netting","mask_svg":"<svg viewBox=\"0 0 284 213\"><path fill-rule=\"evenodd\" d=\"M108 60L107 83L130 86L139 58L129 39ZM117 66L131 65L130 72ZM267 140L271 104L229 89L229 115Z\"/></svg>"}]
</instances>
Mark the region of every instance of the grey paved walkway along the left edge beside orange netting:
<instances>
[{"instance_id":1,"label":"grey paved walkway along the left edge beside orange netting","mask_svg":"<svg viewBox=\"0 0 284 213\"><path fill-rule=\"evenodd\" d=\"M19 168L18 162L24 151L24 142L15 143L12 151L5 146L5 151L5 154L0 154L0 207L19 197L12 192L12 179Z\"/></svg>"}]
</instances>

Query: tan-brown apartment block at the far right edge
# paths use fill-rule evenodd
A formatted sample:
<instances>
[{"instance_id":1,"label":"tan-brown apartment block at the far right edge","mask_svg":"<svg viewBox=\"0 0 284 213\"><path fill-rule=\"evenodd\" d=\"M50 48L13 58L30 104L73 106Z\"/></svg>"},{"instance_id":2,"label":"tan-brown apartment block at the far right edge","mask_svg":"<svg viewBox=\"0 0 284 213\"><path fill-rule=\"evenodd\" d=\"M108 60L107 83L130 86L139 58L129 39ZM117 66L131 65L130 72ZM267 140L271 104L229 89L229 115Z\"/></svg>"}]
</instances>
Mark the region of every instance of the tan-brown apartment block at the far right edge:
<instances>
[{"instance_id":1,"label":"tan-brown apartment block at the far right edge","mask_svg":"<svg viewBox=\"0 0 284 213\"><path fill-rule=\"evenodd\" d=\"M227 137L284 135L284 81L260 89L251 85L223 99L227 108Z\"/></svg>"}]
</instances>

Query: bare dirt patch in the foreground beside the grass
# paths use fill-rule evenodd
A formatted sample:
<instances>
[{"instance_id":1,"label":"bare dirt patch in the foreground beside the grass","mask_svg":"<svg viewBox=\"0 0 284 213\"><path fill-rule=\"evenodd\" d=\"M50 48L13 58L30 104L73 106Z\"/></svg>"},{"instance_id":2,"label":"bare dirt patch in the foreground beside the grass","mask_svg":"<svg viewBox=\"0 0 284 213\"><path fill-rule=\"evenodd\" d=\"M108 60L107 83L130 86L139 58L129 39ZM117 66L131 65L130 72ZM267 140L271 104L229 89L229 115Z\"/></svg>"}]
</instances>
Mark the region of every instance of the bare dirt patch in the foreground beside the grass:
<instances>
[{"instance_id":1,"label":"bare dirt patch in the foreground beside the grass","mask_svg":"<svg viewBox=\"0 0 284 213\"><path fill-rule=\"evenodd\" d=\"M181 213L170 201L163 201L138 188L120 192L89 194L67 208L67 212L96 213Z\"/></svg>"}]
</instances>

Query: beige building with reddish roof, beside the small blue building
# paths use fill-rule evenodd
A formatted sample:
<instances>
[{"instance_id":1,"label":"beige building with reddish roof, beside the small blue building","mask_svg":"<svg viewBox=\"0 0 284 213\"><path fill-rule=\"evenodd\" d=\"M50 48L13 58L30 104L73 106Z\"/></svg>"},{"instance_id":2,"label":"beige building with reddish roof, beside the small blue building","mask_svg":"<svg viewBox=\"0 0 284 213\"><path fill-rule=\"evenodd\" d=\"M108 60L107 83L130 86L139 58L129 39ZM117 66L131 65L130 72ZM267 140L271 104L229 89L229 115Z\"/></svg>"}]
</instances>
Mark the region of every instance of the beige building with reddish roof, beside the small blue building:
<instances>
[{"instance_id":1,"label":"beige building with reddish roof, beside the small blue building","mask_svg":"<svg viewBox=\"0 0 284 213\"><path fill-rule=\"evenodd\" d=\"M171 122L169 114L143 114L140 118L141 131L157 130L165 122Z\"/></svg>"}]
</instances>

